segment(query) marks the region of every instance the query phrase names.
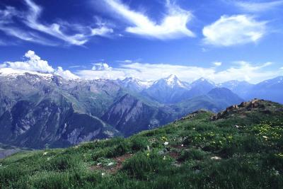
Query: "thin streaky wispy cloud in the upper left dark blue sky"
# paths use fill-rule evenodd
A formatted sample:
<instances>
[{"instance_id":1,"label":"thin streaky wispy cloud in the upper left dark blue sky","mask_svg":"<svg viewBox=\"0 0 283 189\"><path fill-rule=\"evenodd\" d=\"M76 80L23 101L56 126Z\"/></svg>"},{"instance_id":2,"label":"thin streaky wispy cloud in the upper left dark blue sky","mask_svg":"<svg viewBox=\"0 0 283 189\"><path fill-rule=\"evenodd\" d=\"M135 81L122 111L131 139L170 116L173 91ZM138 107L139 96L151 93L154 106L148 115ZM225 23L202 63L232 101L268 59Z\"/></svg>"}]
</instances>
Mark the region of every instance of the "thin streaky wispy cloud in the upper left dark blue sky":
<instances>
[{"instance_id":1,"label":"thin streaky wispy cloud in the upper left dark blue sky","mask_svg":"<svg viewBox=\"0 0 283 189\"><path fill-rule=\"evenodd\" d=\"M42 33L63 40L69 45L83 45L94 35L106 36L113 32L112 28L108 28L101 23L99 23L98 28L70 24L62 21L60 23L43 24L39 21L42 7L35 4L32 0L25 0L25 4L28 6L28 11L25 12L18 11L11 6L0 10L0 30L4 31L7 35L12 35L21 40L37 42L44 45L57 45L57 43L43 38ZM13 18L17 18L18 21L33 29L33 31L19 28L18 23L15 23ZM64 31L74 30L76 33L69 35L63 31L63 28ZM37 33L35 33L35 31Z\"/></svg>"}]
</instances>

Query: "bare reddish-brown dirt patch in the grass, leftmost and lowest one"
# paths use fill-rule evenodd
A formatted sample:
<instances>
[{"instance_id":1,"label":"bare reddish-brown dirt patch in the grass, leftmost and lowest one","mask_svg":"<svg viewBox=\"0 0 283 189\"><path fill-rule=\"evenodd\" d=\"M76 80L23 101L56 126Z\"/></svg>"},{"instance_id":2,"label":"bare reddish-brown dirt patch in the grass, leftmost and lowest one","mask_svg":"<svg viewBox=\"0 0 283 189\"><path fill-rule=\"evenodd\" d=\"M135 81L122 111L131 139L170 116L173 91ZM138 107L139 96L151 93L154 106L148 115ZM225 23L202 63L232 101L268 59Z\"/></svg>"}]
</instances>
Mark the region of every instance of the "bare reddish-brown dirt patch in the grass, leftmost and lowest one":
<instances>
[{"instance_id":1,"label":"bare reddish-brown dirt patch in the grass, leftmost and lowest one","mask_svg":"<svg viewBox=\"0 0 283 189\"><path fill-rule=\"evenodd\" d=\"M101 170L108 173L117 173L117 171L122 168L123 162L129 159L131 156L132 154L124 154L122 156L115 157L112 159L116 163L114 166L103 166L103 164L99 164L96 166L91 166L91 170Z\"/></svg>"}]
</instances>

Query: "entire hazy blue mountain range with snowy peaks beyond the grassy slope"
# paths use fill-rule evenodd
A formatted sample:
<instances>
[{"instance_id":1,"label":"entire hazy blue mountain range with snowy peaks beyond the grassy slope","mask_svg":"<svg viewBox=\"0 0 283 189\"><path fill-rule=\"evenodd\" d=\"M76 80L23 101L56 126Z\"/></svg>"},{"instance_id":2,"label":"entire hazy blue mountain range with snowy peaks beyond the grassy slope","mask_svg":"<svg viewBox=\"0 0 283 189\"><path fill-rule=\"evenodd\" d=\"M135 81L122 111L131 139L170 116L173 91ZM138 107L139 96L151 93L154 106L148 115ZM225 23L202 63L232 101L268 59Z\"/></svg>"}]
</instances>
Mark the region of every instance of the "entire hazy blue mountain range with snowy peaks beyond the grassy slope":
<instances>
[{"instance_id":1,"label":"entire hazy blue mountain range with snowy peaks beyond the grassy slope","mask_svg":"<svg viewBox=\"0 0 283 189\"><path fill-rule=\"evenodd\" d=\"M16 147L68 147L130 136L204 108L218 112L250 98L283 103L283 77L248 84L171 75L158 81L67 80L0 69L0 142Z\"/></svg>"}]
</instances>

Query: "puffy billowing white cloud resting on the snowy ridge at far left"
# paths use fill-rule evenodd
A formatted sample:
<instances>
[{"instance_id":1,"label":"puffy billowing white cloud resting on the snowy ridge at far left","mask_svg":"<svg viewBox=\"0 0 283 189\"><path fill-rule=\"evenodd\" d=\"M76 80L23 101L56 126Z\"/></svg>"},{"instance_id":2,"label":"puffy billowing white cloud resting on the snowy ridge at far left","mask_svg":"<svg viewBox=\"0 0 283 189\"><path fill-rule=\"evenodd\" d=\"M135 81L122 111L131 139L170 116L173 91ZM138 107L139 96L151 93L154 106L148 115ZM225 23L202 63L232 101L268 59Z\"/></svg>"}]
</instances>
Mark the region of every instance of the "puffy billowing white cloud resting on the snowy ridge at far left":
<instances>
[{"instance_id":1,"label":"puffy billowing white cloud resting on the snowy ridge at far left","mask_svg":"<svg viewBox=\"0 0 283 189\"><path fill-rule=\"evenodd\" d=\"M0 64L0 69L11 68L22 71L39 71L40 73L56 74L64 79L79 79L79 76L72 74L69 70L64 70L62 67L53 69L46 60L41 59L32 50L26 52L24 58L25 60L22 62L4 62L4 64Z\"/></svg>"}]
</instances>

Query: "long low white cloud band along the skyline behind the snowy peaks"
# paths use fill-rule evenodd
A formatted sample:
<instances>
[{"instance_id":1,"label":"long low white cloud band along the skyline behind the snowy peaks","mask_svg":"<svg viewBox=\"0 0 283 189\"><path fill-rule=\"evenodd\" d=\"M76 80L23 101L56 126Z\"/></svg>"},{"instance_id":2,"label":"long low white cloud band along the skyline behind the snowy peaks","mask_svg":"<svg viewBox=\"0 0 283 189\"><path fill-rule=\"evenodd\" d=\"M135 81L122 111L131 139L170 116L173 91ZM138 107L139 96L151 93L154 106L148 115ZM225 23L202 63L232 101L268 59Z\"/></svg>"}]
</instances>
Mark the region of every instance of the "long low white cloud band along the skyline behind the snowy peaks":
<instances>
[{"instance_id":1,"label":"long low white cloud band along the skyline behind the snowy peaks","mask_svg":"<svg viewBox=\"0 0 283 189\"><path fill-rule=\"evenodd\" d=\"M141 80L157 80L175 74L183 81L195 81L200 77L211 79L216 83L237 79L239 81L249 81L257 83L282 74L282 71L269 71L270 62L253 65L248 62L236 62L229 69L218 71L216 67L189 67L172 64L141 64L131 63L120 64L118 68L108 70L79 70L76 74L83 79L125 79L134 77Z\"/></svg>"}]
</instances>

